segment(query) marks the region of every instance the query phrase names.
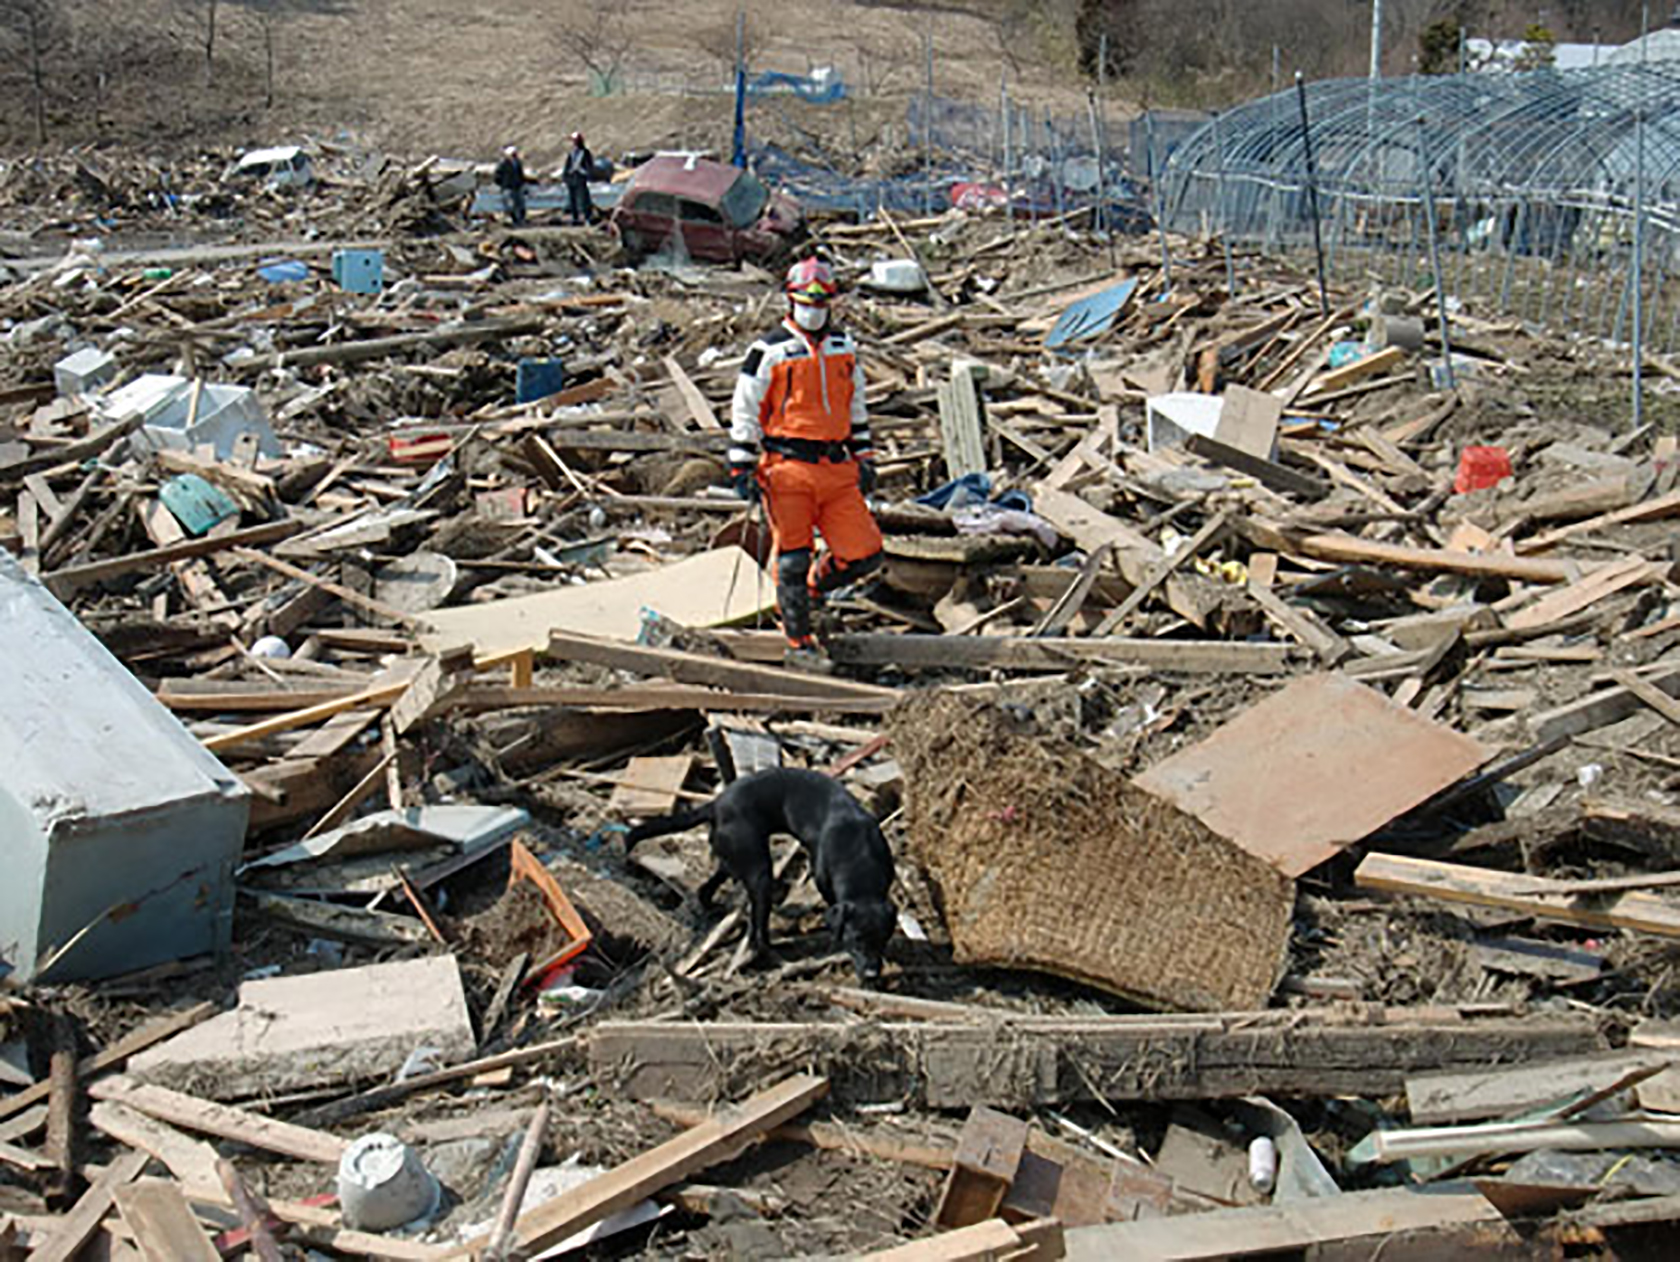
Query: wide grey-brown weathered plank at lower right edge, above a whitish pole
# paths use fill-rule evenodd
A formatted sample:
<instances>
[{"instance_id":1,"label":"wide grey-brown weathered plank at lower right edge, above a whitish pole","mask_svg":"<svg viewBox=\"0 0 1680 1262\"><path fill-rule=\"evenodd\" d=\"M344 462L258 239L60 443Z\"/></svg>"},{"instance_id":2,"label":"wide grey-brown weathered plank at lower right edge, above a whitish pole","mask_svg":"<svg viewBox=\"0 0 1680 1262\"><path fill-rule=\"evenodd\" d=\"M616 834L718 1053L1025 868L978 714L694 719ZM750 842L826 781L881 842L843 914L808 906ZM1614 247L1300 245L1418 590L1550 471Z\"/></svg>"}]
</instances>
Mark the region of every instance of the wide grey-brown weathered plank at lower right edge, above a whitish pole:
<instances>
[{"instance_id":1,"label":"wide grey-brown weathered plank at lower right edge, above a whitish pole","mask_svg":"<svg viewBox=\"0 0 1680 1262\"><path fill-rule=\"evenodd\" d=\"M1658 1049L1541 1060L1532 1065L1483 1065L1406 1079L1406 1106L1420 1126L1480 1121L1529 1112L1583 1092L1614 1086L1633 1070L1675 1059Z\"/></svg>"}]
</instances>

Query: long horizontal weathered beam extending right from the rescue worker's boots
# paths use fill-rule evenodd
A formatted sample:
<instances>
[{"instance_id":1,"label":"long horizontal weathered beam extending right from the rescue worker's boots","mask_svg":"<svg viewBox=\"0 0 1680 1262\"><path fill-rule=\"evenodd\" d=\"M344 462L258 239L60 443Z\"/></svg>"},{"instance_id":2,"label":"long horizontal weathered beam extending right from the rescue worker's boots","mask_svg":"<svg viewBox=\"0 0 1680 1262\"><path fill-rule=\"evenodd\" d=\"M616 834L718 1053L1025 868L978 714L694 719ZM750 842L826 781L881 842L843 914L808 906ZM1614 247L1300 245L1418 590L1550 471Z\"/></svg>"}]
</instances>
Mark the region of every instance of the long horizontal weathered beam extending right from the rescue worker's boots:
<instances>
[{"instance_id":1,"label":"long horizontal weathered beam extending right from the rescue worker's boots","mask_svg":"<svg viewBox=\"0 0 1680 1262\"><path fill-rule=\"evenodd\" d=\"M1147 665L1154 670L1193 674L1275 676L1289 669L1287 644L1233 640L1144 640L1107 635L835 635L827 644L837 662L897 665L911 670L1003 667L1013 670L1067 670L1092 662Z\"/></svg>"}]
</instances>

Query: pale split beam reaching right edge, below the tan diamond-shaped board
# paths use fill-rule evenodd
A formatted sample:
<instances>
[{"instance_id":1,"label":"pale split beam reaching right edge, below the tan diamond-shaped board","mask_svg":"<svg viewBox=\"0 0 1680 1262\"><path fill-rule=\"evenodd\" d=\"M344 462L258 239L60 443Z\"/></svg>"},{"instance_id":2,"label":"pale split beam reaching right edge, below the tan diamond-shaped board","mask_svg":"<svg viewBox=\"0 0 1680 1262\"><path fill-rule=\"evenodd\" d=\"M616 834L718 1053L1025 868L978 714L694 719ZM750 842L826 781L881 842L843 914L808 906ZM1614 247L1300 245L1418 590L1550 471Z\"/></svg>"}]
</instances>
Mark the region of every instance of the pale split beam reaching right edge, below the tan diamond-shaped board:
<instances>
[{"instance_id":1,"label":"pale split beam reaching right edge, below the tan diamond-shaped board","mask_svg":"<svg viewBox=\"0 0 1680 1262\"><path fill-rule=\"evenodd\" d=\"M1362 889L1504 907L1589 929L1633 929L1680 938L1680 904L1655 894L1571 894L1566 881L1556 882L1556 892L1539 892L1547 884L1537 877L1386 854L1366 855L1354 881Z\"/></svg>"}]
</instances>

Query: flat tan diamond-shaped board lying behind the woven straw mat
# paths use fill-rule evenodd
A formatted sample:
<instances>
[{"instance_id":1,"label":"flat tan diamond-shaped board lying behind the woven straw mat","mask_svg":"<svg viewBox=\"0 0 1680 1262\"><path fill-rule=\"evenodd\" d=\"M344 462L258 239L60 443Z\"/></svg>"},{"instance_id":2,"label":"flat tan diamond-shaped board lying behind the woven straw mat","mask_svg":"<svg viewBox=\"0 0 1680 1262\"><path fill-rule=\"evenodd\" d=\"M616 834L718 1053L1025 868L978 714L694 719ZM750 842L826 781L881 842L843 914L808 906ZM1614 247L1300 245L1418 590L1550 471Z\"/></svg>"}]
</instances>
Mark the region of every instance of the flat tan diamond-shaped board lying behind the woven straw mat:
<instances>
[{"instance_id":1,"label":"flat tan diamond-shaped board lying behind the woven straw mat","mask_svg":"<svg viewBox=\"0 0 1680 1262\"><path fill-rule=\"evenodd\" d=\"M1137 785L1300 876L1478 768L1487 749L1344 676L1309 676Z\"/></svg>"}]
</instances>

